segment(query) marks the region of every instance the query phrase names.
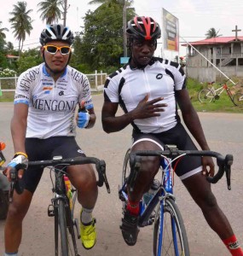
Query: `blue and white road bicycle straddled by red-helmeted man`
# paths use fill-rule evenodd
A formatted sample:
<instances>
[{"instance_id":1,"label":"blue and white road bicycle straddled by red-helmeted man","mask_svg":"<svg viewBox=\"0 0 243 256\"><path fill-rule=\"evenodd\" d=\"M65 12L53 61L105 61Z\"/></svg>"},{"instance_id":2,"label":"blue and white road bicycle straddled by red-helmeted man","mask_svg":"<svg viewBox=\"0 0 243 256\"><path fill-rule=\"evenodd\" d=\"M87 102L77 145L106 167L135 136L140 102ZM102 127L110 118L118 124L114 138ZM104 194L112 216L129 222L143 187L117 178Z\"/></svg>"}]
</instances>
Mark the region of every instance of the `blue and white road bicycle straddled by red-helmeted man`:
<instances>
[{"instance_id":1,"label":"blue and white road bicycle straddled by red-helmeted man","mask_svg":"<svg viewBox=\"0 0 243 256\"><path fill-rule=\"evenodd\" d=\"M230 187L230 166L233 164L233 155L223 156L214 151L178 150L173 145L165 145L165 150L142 150L130 152L127 150L124 157L122 186L119 188L119 199L124 207L128 201L128 188L134 189L136 176L141 166L142 156L159 156L161 159L161 183L153 193L148 203L143 195L140 201L138 226L140 228L153 224L153 256L189 256L188 238L182 215L176 205L176 196L173 194L174 170L176 163L184 155L211 156L217 159L218 172L214 177L206 177L210 183L217 183L225 172L228 189Z\"/></svg>"}]
</instances>

